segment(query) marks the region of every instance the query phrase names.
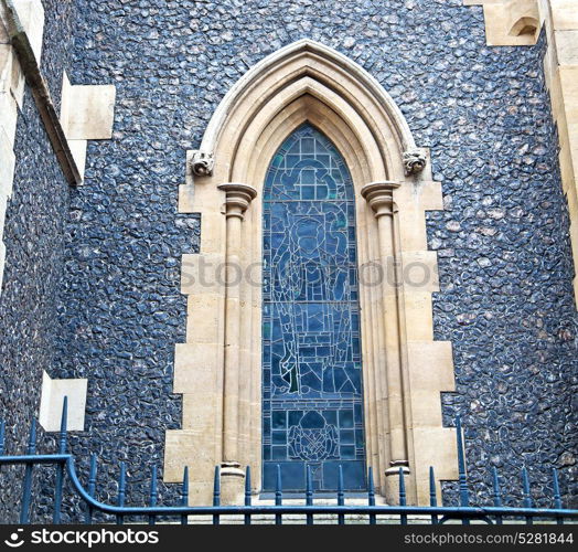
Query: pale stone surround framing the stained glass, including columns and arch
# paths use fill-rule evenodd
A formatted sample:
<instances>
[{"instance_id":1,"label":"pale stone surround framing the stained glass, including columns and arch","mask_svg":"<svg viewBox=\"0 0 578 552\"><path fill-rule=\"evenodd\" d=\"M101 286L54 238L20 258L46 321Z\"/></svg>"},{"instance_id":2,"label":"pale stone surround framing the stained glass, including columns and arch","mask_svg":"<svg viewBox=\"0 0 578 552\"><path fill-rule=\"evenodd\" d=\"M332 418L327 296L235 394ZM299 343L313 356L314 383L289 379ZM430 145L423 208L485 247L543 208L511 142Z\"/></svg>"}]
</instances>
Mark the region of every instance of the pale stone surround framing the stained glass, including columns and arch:
<instances>
[{"instance_id":1,"label":"pale stone surround framing the stained glass, including columns and arch","mask_svg":"<svg viewBox=\"0 0 578 552\"><path fill-rule=\"evenodd\" d=\"M426 238L425 212L442 209L441 187L377 81L310 40L243 76L188 155L179 209L201 213L202 236L200 253L183 256L186 342L174 367L183 417L167 432L164 479L191 466L191 501L208 503L221 465L234 500L250 465L260 489L261 190L274 153L306 121L338 147L354 182L367 464L388 502L402 467L410 502L427 503L429 466L439 480L457 477L440 403L454 390L452 351L434 341L437 256Z\"/></svg>"}]
</instances>

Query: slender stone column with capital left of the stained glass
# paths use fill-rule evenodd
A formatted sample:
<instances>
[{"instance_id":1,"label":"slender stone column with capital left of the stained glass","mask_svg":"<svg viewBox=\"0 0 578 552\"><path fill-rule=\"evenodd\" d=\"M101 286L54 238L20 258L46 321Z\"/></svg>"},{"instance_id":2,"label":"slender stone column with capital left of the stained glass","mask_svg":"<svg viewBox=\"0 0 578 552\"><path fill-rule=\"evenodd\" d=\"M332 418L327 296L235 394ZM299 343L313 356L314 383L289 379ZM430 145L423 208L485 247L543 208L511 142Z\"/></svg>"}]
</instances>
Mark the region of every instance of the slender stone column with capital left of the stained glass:
<instances>
[{"instance_id":1,"label":"slender stone column with capital left of the stained glass","mask_svg":"<svg viewBox=\"0 0 578 552\"><path fill-rule=\"evenodd\" d=\"M226 192L226 272L225 272L225 365L223 374L223 458L221 475L224 503L235 503L243 492L244 471L238 456L240 304L243 277L239 253L244 213L257 197L247 184L221 184Z\"/></svg>"}]
</instances>

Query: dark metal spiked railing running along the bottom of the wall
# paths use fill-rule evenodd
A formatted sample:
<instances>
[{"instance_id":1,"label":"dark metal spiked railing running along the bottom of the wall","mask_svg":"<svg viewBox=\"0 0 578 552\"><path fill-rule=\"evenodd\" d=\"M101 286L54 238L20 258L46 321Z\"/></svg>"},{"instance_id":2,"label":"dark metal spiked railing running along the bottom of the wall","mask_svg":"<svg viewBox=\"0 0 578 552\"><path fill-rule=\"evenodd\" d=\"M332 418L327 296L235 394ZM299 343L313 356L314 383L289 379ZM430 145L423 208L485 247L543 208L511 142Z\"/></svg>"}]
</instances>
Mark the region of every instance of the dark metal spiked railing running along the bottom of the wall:
<instances>
[{"instance_id":1,"label":"dark metal spiked railing running along the bottom of the wall","mask_svg":"<svg viewBox=\"0 0 578 552\"><path fill-rule=\"evenodd\" d=\"M463 450L463 440L461 432L461 422L457 420L457 446L458 446L458 471L459 471L459 506L438 506L436 492L436 475L434 468L429 468L429 486L430 486L430 505L428 507L407 506L404 470L399 469L399 497L398 506L376 506L375 503L375 485L373 470L370 467L367 474L368 489L366 493L366 505L346 503L343 471L340 467L338 477L336 505L320 505L315 503L315 493L312 484L311 470L307 470L304 502L301 505L283 503L283 491L281 470L277 467L277 482L275 491L275 506L272 505L254 505L251 492L250 468L247 467L245 477L245 501L243 506L223 506L221 503L221 468L215 468L214 489L213 489L213 505L206 507L189 506L189 470L185 467L183 474L183 481L180 490L180 500L175 506L159 506L158 505L158 475L157 467L153 466L151 470L149 503L147 506L127 506L127 476L126 465L120 463L120 474L118 479L118 496L116 505L108 505L100 502L96 498L96 482L97 482L97 457L92 455L90 468L88 475L87 488L85 488L75 469L75 460L72 454L67 450L67 400L64 400L61 431L58 435L58 446L56 454L36 454L36 423L32 421L30 429L30 438L28 450L25 455L8 456L4 455L4 423L0 423L0 468L2 466L24 465L24 475L22 480L22 498L20 502L20 523L26 524L34 522L31 517L32 509L32 489L34 467L39 465L55 466L54 478L54 506L53 506L53 523L62 522L63 510L63 490L65 477L67 476L72 490L81 503L84 506L84 512L73 512L78 517L84 518L85 523L93 523L95 512L100 512L105 517L117 524L122 524L126 518L131 518L131 521L148 521L149 524L154 524L159 518L162 520L169 519L172 521L180 520L182 524L194 522L204 517L211 517L213 524L223 522L231 522L233 519L240 520L245 524L254 523L258 517L268 516L275 520L276 524L283 523L283 516L302 517L307 524L313 524L315 519L324 518L327 523L328 517L330 520L335 520L338 524L344 524L346 516L354 516L355 522L366 522L376 524L382 521L378 517L386 517L389 523L431 523L442 524L451 521L458 521L462 524L469 524L472 521L478 521L489 524L502 524L507 522L525 522L532 524L535 520L538 522L555 522L564 524L565 521L576 521L578 519L578 510L563 508L560 489L558 484L558 475L556 469L553 469L553 508L536 508L532 499L531 486L527 470L522 470L522 490L523 490L523 506L507 507L503 505L502 491L500 489L500 478L497 470L493 468L493 505L490 507L474 507L470 502L470 489L468 485L468 477L465 471L465 457ZM13 474L8 474L12 476ZM4 475L6 477L7 475ZM0 474L0 477L2 475ZM360 518L363 517L363 520ZM301 519L301 518L300 518ZM287 520L287 519L286 519ZM257 520L258 521L258 520ZM293 518L295 522L295 518Z\"/></svg>"}]
</instances>

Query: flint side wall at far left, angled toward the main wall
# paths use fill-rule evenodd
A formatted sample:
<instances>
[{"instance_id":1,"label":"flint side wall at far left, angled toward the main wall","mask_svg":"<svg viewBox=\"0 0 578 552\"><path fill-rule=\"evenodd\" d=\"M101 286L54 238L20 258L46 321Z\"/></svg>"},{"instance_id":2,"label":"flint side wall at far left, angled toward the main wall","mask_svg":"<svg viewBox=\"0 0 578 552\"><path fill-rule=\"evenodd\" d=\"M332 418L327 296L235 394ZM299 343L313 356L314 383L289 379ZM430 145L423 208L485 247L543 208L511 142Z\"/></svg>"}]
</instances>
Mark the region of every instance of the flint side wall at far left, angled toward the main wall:
<instances>
[{"instance_id":1,"label":"flint side wall at far left, angled toward the main wall","mask_svg":"<svg viewBox=\"0 0 578 552\"><path fill-rule=\"evenodd\" d=\"M46 25L42 56L44 72L56 103L62 72L72 51L74 6L71 1L43 0ZM42 371L52 372L63 328L57 317L63 289L68 213L68 184L54 156L26 87L19 113L15 174L8 202L7 246L0 295L0 417L7 423L7 449L24 449L30 422L38 415ZM40 449L49 449L42 429ZM21 490L20 469L0 474L2 520L17 520L13 505Z\"/></svg>"}]
</instances>

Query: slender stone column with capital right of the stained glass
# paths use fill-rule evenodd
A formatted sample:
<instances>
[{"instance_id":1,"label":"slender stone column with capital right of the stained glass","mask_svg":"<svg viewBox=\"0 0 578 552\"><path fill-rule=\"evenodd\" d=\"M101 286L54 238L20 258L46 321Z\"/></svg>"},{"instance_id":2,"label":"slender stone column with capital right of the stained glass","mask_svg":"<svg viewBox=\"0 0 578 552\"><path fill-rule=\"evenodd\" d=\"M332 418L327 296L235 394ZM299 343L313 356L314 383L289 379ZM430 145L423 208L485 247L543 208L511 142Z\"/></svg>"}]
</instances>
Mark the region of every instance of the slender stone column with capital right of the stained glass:
<instances>
[{"instance_id":1,"label":"slender stone column with capital right of the stained glass","mask_svg":"<svg viewBox=\"0 0 578 552\"><path fill-rule=\"evenodd\" d=\"M399 188L397 182L372 182L363 187L361 193L377 219L379 234L379 256L383 267L384 338L386 354L387 408L389 426L389 468L386 476L397 476L402 467L409 473L406 424L404 412L404 381L402 363L402 340L399 323L399 262L396 247L396 206L393 192Z\"/></svg>"}]
</instances>

